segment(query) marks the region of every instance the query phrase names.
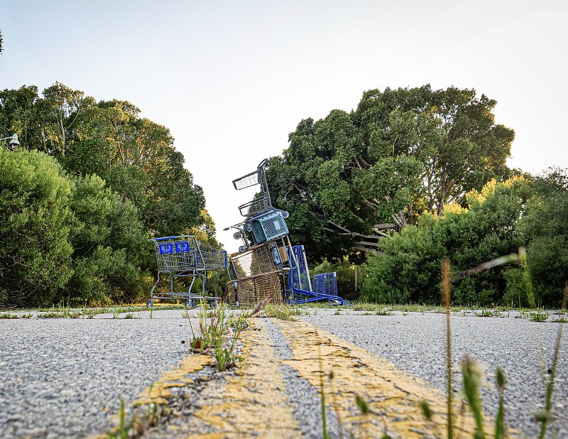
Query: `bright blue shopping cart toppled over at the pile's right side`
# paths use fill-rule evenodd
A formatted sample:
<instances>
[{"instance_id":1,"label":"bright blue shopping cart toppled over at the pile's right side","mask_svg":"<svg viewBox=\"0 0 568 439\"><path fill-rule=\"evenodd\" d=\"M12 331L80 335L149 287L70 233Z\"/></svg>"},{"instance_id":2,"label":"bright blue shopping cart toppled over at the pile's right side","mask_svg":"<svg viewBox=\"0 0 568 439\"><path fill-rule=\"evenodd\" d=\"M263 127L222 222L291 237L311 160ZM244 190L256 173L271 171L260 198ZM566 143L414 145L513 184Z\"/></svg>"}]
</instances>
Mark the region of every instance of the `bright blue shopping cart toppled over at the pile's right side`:
<instances>
[{"instance_id":1,"label":"bright blue shopping cart toppled over at the pile's right side","mask_svg":"<svg viewBox=\"0 0 568 439\"><path fill-rule=\"evenodd\" d=\"M334 305L351 305L337 295L337 274L335 272L315 275L312 287L304 246L293 246L288 253L290 272L285 288L287 303L299 304L326 300Z\"/></svg>"}]
</instances>

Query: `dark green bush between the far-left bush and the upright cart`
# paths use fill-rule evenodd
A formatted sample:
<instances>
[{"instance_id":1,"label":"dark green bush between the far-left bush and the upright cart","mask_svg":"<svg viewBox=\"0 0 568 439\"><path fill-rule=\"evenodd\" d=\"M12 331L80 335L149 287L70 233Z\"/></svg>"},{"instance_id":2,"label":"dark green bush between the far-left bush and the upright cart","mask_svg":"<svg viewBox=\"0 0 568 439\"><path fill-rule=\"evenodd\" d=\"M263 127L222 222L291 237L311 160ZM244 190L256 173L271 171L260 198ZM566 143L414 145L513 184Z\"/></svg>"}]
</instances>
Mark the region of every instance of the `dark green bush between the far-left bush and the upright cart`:
<instances>
[{"instance_id":1,"label":"dark green bush between the far-left bush and the upright cart","mask_svg":"<svg viewBox=\"0 0 568 439\"><path fill-rule=\"evenodd\" d=\"M149 257L136 207L121 202L97 175L72 181L70 208L79 227L70 237L75 272L67 298L104 304L135 299L143 291L141 265Z\"/></svg>"}]
</instances>

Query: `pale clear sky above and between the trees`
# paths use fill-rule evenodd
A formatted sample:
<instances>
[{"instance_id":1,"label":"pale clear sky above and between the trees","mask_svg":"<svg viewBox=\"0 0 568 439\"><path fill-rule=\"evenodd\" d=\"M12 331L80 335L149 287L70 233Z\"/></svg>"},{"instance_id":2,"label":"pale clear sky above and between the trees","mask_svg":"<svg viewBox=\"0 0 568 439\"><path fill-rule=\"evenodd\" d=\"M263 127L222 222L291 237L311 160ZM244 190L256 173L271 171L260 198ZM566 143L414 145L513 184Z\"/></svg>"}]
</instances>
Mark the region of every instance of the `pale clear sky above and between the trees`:
<instances>
[{"instance_id":1,"label":"pale clear sky above and between the trees","mask_svg":"<svg viewBox=\"0 0 568 439\"><path fill-rule=\"evenodd\" d=\"M168 126L229 251L231 180L365 90L474 88L509 166L568 168L567 0L0 0L0 30L1 90L60 81Z\"/></svg>"}]
</instances>

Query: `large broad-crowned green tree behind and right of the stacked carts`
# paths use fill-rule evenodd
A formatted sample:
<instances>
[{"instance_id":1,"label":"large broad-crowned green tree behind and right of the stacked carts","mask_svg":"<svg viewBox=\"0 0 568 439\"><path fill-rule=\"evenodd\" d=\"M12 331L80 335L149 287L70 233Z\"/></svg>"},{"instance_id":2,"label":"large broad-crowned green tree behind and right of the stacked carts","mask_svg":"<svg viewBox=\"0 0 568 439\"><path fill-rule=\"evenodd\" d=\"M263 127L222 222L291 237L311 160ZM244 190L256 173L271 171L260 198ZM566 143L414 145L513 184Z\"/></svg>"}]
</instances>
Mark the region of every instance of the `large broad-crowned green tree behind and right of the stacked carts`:
<instances>
[{"instance_id":1,"label":"large broad-crowned green tree behind and right of the stacked carts","mask_svg":"<svg viewBox=\"0 0 568 439\"><path fill-rule=\"evenodd\" d=\"M464 205L467 191L508 177L514 133L494 124L495 104L475 90L426 85L370 90L351 114L302 120L268 168L293 238L318 259L376 251L388 229Z\"/></svg>"}]
</instances>

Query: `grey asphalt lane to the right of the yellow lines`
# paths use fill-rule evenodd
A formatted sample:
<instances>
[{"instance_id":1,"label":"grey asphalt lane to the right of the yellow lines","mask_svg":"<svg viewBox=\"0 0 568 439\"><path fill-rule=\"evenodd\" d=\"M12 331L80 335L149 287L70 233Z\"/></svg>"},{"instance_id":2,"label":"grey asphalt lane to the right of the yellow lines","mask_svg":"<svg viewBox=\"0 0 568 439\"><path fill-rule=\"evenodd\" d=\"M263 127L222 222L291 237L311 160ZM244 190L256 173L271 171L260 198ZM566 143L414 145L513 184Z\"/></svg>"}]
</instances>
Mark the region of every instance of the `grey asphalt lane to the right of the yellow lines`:
<instances>
[{"instance_id":1,"label":"grey asphalt lane to the right of the yellow lines","mask_svg":"<svg viewBox=\"0 0 568 439\"><path fill-rule=\"evenodd\" d=\"M330 314L330 310L318 310L317 315L305 316L302 320L354 342L445 391L446 315ZM459 361L465 354L481 362L486 375L486 386L481 391L484 412L495 416L498 391L494 376L496 368L501 367L508 381L505 392L509 424L529 438L535 438L538 429L532 413L542 410L545 401L541 364L545 370L552 367L560 325L536 323L527 318L514 318L514 315L518 314L511 313L508 318L452 315L454 384L456 389L461 389ZM564 416L556 424L558 438L568 438L568 334L565 330L553 399L555 412Z\"/></svg>"}]
</instances>

